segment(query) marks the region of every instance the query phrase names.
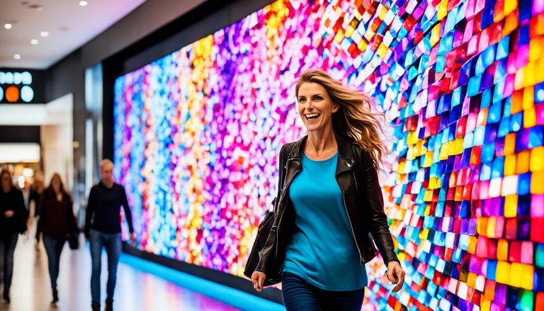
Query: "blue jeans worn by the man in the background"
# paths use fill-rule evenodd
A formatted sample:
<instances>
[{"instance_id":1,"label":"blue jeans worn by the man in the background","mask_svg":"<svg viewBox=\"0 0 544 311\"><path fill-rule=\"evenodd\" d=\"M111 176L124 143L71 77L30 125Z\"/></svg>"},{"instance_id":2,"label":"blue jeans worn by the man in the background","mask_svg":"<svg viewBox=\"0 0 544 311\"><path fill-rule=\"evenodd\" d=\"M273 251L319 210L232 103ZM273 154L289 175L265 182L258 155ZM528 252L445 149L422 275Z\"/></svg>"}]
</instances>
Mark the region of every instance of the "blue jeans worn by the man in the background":
<instances>
[{"instance_id":1,"label":"blue jeans worn by the man in the background","mask_svg":"<svg viewBox=\"0 0 544 311\"><path fill-rule=\"evenodd\" d=\"M89 232L91 244L91 259L93 271L91 273L91 300L100 303L100 273L102 271L102 249L106 247L108 254L108 285L106 288L106 300L113 301L113 291L117 281L117 264L121 254L121 234L103 233L96 230Z\"/></svg>"}]
</instances>

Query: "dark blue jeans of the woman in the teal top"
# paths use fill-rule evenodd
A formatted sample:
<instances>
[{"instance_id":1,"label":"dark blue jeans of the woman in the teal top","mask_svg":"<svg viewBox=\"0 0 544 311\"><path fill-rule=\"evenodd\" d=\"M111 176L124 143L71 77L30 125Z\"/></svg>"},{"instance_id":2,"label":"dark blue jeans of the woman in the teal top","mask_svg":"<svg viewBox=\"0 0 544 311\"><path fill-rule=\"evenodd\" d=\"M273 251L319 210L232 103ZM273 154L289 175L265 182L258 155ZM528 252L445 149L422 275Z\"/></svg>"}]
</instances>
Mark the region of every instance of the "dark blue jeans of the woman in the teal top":
<instances>
[{"instance_id":1,"label":"dark blue jeans of the woman in the teal top","mask_svg":"<svg viewBox=\"0 0 544 311\"><path fill-rule=\"evenodd\" d=\"M322 290L293 273L283 273L283 304L290 310L360 311L365 289L349 291Z\"/></svg>"}]
</instances>

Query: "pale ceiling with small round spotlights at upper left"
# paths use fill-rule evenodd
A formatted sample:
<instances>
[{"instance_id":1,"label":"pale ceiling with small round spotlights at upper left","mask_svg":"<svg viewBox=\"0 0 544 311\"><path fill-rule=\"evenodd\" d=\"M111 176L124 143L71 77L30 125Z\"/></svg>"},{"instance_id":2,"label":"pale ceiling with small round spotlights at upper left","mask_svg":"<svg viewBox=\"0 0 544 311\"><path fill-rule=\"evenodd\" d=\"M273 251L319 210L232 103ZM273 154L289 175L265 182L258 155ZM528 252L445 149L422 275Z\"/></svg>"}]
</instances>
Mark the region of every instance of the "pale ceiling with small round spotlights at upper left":
<instances>
[{"instance_id":1,"label":"pale ceiling with small round spotlights at upper left","mask_svg":"<svg viewBox=\"0 0 544 311\"><path fill-rule=\"evenodd\" d=\"M46 69L145 1L86 0L81 6L79 0L2 0L0 67ZM49 33L45 38L40 35L44 31Z\"/></svg>"}]
</instances>

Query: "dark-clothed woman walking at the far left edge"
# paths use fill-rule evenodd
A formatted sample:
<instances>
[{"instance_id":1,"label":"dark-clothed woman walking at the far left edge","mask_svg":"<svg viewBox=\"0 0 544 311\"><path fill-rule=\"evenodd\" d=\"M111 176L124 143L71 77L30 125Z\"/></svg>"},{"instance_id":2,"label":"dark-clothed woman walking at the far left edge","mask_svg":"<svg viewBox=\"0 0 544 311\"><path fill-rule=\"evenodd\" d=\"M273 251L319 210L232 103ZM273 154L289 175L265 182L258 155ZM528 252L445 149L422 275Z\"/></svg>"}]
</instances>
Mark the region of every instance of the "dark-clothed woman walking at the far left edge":
<instances>
[{"instance_id":1,"label":"dark-clothed woman walking at the far left edge","mask_svg":"<svg viewBox=\"0 0 544 311\"><path fill-rule=\"evenodd\" d=\"M13 252L18 234L26 231L27 213L23 192L15 188L11 173L7 169L0 172L0 273L4 283L4 300L9 303L9 288L13 276Z\"/></svg>"}]
</instances>

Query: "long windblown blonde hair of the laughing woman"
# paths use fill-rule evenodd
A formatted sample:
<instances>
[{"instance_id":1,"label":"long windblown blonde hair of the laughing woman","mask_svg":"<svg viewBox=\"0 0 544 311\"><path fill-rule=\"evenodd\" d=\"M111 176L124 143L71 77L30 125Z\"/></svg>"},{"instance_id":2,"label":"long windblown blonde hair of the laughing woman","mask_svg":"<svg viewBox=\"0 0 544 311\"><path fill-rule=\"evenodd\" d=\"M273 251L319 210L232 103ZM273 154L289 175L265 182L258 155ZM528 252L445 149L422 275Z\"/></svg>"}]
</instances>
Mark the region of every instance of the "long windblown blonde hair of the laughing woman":
<instances>
[{"instance_id":1,"label":"long windblown blonde hair of the laughing woman","mask_svg":"<svg viewBox=\"0 0 544 311\"><path fill-rule=\"evenodd\" d=\"M300 74L296 85L297 98L298 90L304 83L317 83L327 90L332 103L340 106L339 111L332 115L332 128L361 145L378 168L387 153L385 143L380 139L380 133L385 135L385 132L379 118L385 120L385 115L372 111L373 102L370 97L347 89L340 81L319 69L306 70Z\"/></svg>"}]
</instances>

